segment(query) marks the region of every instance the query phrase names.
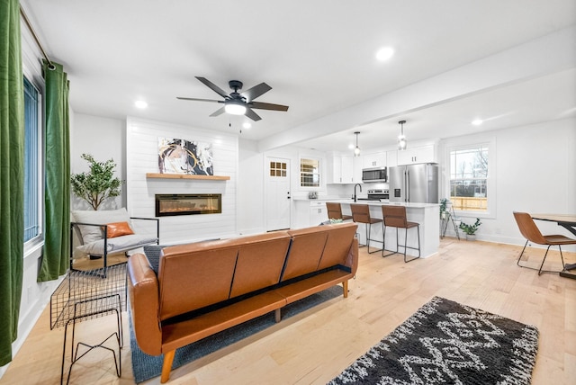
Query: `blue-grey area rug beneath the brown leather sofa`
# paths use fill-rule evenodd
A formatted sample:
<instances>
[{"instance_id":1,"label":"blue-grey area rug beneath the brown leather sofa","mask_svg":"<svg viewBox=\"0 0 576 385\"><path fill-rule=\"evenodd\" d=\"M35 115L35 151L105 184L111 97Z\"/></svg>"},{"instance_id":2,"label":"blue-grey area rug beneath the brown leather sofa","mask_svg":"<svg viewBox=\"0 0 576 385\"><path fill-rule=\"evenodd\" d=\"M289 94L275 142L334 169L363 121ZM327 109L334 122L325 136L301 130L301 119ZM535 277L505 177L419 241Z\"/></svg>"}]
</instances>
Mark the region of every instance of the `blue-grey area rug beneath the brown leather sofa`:
<instances>
[{"instance_id":1,"label":"blue-grey area rug beneath the brown leather sofa","mask_svg":"<svg viewBox=\"0 0 576 385\"><path fill-rule=\"evenodd\" d=\"M297 300L296 302L285 306L282 310L282 319L285 320L291 318L302 313L302 311L311 309L320 305L322 302L337 297L342 297L342 286L340 285L312 294L309 297ZM280 324L282 324L282 322L283 321L281 320ZM175 369L186 363L191 363L204 355L211 354L224 346L234 344L247 336L255 335L266 329L266 327L271 327L273 325L275 325L274 312L244 322L237 327L230 327L218 334L208 336L198 342L176 349L172 368ZM148 355L139 349L138 343L136 342L136 336L134 336L131 317L130 349L132 353L132 372L134 373L134 381L136 381L136 383L160 375L160 372L162 372L162 360L164 359L164 356Z\"/></svg>"}]
</instances>

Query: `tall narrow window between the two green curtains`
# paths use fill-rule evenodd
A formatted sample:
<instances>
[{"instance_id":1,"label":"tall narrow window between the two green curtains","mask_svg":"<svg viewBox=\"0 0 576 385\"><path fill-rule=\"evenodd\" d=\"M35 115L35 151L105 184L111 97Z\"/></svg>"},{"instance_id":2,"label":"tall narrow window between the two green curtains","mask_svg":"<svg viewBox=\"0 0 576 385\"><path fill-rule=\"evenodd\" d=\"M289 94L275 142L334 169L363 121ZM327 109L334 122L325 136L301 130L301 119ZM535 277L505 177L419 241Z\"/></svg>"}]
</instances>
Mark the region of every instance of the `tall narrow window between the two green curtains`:
<instances>
[{"instance_id":1,"label":"tall narrow window between the two green curtains","mask_svg":"<svg viewBox=\"0 0 576 385\"><path fill-rule=\"evenodd\" d=\"M24 77L24 242L40 236L40 92Z\"/></svg>"}]
</instances>

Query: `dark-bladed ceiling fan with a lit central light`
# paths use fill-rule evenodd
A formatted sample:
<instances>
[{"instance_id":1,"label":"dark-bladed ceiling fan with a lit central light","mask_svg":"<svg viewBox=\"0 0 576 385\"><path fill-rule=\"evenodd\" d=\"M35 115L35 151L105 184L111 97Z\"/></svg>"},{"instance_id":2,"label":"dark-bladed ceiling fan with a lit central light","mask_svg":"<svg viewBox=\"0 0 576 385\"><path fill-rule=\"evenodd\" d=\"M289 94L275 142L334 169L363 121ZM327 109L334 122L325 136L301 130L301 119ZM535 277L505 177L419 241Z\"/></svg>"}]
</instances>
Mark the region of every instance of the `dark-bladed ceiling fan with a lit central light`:
<instances>
[{"instance_id":1,"label":"dark-bladed ceiling fan with a lit central light","mask_svg":"<svg viewBox=\"0 0 576 385\"><path fill-rule=\"evenodd\" d=\"M218 116L226 112L232 115L246 115L253 121L260 121L262 118L260 118L260 116L258 116L258 114L254 112L253 109L288 111L287 105L254 102L254 99L256 99L258 96L266 94L268 91L272 89L272 87L270 85L266 85L266 83L260 83L259 85L255 85L252 88L244 91L243 93L238 93L238 90L242 89L242 82L240 82L239 80L230 80L228 82L228 85L234 91L230 94L226 94L226 92L222 90L218 85L213 84L210 80L206 79L205 77L201 76L195 76L195 77L196 79L200 80L204 85L208 86L216 94L219 94L221 97L223 97L224 100L198 99L198 98L180 97L180 96L177 96L176 99L192 100L198 102L224 103L224 106L220 108L220 110L212 112L210 116Z\"/></svg>"}]
</instances>

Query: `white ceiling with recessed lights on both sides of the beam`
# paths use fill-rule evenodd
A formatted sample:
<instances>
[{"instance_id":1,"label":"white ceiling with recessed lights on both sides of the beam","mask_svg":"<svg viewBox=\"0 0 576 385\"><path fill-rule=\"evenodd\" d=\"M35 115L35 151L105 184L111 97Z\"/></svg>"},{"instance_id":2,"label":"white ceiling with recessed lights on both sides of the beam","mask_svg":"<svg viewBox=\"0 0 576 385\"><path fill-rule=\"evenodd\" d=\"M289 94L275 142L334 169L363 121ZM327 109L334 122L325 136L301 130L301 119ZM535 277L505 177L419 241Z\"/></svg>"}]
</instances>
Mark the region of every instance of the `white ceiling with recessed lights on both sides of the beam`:
<instances>
[{"instance_id":1,"label":"white ceiling with recessed lights on both sides of the beam","mask_svg":"<svg viewBox=\"0 0 576 385\"><path fill-rule=\"evenodd\" d=\"M242 81L245 90L266 82L273 89L257 101L290 109L257 110L262 121L240 134L254 140L576 25L573 0L22 4L49 58L68 73L75 112L238 133L247 118L209 117L220 104L175 97L220 98L194 76L204 76L226 91L231 79ZM374 58L383 46L396 51L384 63ZM138 99L148 102L147 110L134 107ZM400 120L407 121L410 143L570 117L576 117L576 63L372 124L335 128L338 133L297 144L346 150L358 130L363 148L391 146ZM470 125L476 118L485 120L479 129Z\"/></svg>"}]
</instances>

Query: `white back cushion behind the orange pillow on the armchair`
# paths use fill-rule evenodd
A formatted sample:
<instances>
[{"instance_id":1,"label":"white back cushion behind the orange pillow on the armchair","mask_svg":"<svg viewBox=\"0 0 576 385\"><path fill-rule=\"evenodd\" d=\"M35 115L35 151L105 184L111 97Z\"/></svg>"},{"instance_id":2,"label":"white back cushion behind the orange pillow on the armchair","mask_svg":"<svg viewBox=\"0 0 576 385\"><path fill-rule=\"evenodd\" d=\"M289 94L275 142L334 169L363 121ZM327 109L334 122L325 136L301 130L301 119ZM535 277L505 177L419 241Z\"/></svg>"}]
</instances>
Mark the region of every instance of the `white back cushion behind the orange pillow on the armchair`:
<instances>
[{"instance_id":1,"label":"white back cushion behind the orange pillow on the armchair","mask_svg":"<svg viewBox=\"0 0 576 385\"><path fill-rule=\"evenodd\" d=\"M95 225L105 225L106 223L113 222L128 222L130 228L132 228L128 211L123 207L118 210L73 210L72 215L76 222L93 223ZM104 237L103 228L100 226L78 225L78 227L80 228L80 234L82 234L84 245L103 239ZM133 230L134 228L132 228L132 231Z\"/></svg>"}]
</instances>

